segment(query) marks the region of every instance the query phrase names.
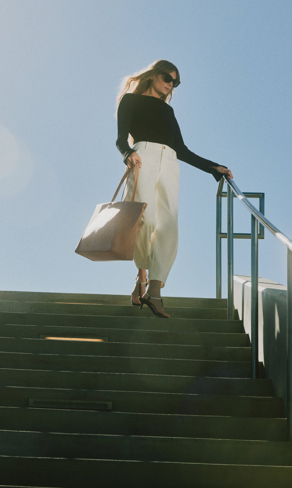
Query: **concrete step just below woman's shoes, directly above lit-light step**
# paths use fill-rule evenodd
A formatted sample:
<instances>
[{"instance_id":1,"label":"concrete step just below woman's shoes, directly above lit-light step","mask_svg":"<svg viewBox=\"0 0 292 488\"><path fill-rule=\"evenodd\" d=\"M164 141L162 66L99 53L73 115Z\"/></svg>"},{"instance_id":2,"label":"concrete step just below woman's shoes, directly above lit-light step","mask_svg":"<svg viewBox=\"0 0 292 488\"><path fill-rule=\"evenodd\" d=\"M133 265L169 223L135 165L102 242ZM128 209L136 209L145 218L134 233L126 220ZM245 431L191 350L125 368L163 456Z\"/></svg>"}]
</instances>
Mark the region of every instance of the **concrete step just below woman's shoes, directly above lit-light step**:
<instances>
[{"instance_id":1,"label":"concrete step just below woman's shoes, directly above lit-light step","mask_svg":"<svg viewBox=\"0 0 292 488\"><path fill-rule=\"evenodd\" d=\"M134 307L132 307L134 308ZM159 330L170 332L244 333L239 320L157 319L151 317L115 317L51 313L0 312L0 324L54 325L76 327L103 327L113 329Z\"/></svg>"}]
</instances>

